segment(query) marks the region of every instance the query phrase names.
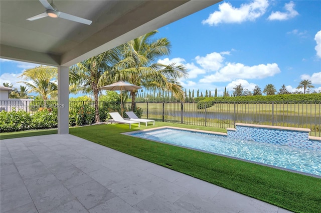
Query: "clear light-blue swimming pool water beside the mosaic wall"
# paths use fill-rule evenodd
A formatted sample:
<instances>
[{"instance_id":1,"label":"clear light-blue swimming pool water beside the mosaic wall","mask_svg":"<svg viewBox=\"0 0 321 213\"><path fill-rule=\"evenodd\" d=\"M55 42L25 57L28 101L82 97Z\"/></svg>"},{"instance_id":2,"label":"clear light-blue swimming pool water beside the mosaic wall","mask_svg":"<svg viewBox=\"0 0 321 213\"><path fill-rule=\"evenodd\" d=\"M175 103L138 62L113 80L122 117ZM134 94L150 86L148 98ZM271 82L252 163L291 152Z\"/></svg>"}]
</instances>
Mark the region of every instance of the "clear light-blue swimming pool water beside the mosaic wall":
<instances>
[{"instance_id":1,"label":"clear light-blue swimming pool water beside the mosaic wall","mask_svg":"<svg viewBox=\"0 0 321 213\"><path fill-rule=\"evenodd\" d=\"M321 175L321 151L174 128L130 135Z\"/></svg>"}]
</instances>

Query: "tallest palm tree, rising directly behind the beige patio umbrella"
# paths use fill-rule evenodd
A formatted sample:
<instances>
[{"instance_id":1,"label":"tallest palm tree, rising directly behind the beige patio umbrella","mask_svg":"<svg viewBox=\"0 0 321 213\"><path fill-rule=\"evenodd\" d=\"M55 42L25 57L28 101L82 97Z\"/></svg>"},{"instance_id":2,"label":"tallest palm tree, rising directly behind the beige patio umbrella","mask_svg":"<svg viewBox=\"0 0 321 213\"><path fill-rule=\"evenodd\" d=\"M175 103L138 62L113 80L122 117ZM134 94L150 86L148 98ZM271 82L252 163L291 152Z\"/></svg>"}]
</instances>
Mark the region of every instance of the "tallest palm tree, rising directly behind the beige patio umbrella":
<instances>
[{"instance_id":1,"label":"tallest palm tree, rising directly behind the beige patio umbrella","mask_svg":"<svg viewBox=\"0 0 321 213\"><path fill-rule=\"evenodd\" d=\"M125 80L146 89L171 91L176 98L184 100L178 79L187 77L186 68L175 63L165 65L156 62L159 57L169 55L171 47L167 38L151 39L157 32L151 31L123 44L124 58L113 72L103 73L99 84L106 84L112 74L114 81ZM135 108L136 93L137 90L130 91L131 110Z\"/></svg>"}]
</instances>

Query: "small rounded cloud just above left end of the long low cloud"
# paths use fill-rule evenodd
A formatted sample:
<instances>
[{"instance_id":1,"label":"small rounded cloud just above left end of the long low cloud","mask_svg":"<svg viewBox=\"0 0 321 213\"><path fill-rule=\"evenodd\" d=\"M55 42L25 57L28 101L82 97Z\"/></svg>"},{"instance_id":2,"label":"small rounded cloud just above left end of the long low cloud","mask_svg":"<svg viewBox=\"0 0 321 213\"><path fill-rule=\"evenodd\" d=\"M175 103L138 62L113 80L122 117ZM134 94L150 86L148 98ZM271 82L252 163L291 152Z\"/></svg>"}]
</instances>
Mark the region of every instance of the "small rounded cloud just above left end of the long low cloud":
<instances>
[{"instance_id":1,"label":"small rounded cloud just above left end of the long low cloud","mask_svg":"<svg viewBox=\"0 0 321 213\"><path fill-rule=\"evenodd\" d=\"M226 54L226 53L225 53ZM216 71L222 67L222 62L225 59L220 53L212 52L210 54L206 54L205 57L203 56L196 56L196 62L200 64L204 69L210 71Z\"/></svg>"}]
</instances>

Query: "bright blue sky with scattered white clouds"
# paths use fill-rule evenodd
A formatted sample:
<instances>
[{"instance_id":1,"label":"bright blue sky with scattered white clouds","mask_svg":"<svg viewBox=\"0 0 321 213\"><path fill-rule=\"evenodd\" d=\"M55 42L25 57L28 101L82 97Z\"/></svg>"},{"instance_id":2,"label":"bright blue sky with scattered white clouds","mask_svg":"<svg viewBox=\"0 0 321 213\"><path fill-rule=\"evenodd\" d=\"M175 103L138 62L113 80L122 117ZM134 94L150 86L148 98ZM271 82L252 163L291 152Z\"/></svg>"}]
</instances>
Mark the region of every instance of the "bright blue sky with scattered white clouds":
<instances>
[{"instance_id":1,"label":"bright blue sky with scattered white clouds","mask_svg":"<svg viewBox=\"0 0 321 213\"><path fill-rule=\"evenodd\" d=\"M321 90L320 0L225 0L159 28L171 54L162 63L185 64L189 89L232 93L239 83L262 90L272 83L295 91L302 79ZM1 84L13 83L35 64L1 59ZM312 90L314 90L312 89Z\"/></svg>"}]
</instances>

